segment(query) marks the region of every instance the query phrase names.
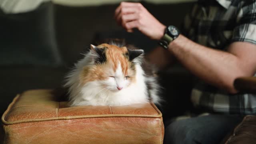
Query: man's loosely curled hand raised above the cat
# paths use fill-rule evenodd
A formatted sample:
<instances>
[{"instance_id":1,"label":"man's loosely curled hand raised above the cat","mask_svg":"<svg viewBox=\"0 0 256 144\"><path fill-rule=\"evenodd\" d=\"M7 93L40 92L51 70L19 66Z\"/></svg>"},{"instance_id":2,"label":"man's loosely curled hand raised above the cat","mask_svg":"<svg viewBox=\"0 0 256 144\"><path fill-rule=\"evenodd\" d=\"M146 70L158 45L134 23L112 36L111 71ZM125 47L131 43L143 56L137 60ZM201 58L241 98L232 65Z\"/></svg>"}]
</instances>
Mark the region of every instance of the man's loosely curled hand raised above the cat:
<instances>
[{"instance_id":1,"label":"man's loosely curled hand raised above the cat","mask_svg":"<svg viewBox=\"0 0 256 144\"><path fill-rule=\"evenodd\" d=\"M128 32L132 32L133 28L137 28L154 40L160 40L166 28L140 3L121 2L116 8L115 19Z\"/></svg>"}]
</instances>

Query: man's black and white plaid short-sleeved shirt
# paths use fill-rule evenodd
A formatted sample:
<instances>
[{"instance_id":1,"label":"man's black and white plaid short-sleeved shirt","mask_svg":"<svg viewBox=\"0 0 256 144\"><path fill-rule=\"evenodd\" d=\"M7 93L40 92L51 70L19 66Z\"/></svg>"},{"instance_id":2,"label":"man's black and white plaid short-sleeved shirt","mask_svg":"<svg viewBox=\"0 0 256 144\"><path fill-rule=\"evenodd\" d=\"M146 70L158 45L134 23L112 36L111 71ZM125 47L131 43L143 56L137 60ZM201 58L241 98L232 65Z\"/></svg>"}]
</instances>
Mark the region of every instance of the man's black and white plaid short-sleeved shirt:
<instances>
[{"instance_id":1,"label":"man's black and white plaid short-sleeved shirt","mask_svg":"<svg viewBox=\"0 0 256 144\"><path fill-rule=\"evenodd\" d=\"M184 30L191 40L219 50L237 41L256 44L256 0L199 0ZM206 112L256 114L255 94L228 94L204 82L192 90L191 100Z\"/></svg>"}]
</instances>

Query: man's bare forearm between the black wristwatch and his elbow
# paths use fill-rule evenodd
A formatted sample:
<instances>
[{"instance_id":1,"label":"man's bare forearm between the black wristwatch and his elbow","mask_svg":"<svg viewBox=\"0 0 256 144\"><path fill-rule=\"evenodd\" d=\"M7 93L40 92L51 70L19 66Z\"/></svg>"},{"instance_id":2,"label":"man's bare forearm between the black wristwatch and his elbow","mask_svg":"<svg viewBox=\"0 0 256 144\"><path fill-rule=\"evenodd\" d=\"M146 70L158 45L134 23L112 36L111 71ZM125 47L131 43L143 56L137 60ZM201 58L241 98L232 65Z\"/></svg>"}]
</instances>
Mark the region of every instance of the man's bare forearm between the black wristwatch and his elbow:
<instances>
[{"instance_id":1,"label":"man's bare forearm between the black wristwatch and his elbow","mask_svg":"<svg viewBox=\"0 0 256 144\"><path fill-rule=\"evenodd\" d=\"M168 47L193 74L229 92L236 92L233 87L234 79L246 75L235 55L202 46L183 35L178 36Z\"/></svg>"}]
</instances>

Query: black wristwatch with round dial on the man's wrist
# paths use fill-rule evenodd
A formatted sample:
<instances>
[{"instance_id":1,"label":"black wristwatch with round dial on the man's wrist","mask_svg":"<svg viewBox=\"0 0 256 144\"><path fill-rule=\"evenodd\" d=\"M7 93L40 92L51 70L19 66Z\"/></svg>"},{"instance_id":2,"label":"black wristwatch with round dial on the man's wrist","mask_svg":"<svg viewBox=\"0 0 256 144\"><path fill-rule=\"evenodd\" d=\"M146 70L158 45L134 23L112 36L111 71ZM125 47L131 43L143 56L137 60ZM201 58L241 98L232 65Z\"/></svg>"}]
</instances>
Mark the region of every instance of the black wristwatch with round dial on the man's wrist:
<instances>
[{"instance_id":1,"label":"black wristwatch with round dial on the man's wrist","mask_svg":"<svg viewBox=\"0 0 256 144\"><path fill-rule=\"evenodd\" d=\"M164 36L159 40L158 44L160 44L165 49L168 49L168 45L170 42L175 40L180 35L180 31L175 26L167 26L164 30Z\"/></svg>"}]
</instances>

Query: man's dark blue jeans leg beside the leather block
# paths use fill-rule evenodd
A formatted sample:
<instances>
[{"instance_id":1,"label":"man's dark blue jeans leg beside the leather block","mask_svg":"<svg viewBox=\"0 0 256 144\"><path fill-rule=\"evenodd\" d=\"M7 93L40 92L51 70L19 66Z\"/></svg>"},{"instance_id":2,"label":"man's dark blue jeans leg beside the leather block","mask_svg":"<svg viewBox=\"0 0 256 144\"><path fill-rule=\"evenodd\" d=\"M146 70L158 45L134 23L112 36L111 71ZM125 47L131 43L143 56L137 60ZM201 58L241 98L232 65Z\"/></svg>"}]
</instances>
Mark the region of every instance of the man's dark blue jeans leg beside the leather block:
<instances>
[{"instance_id":1,"label":"man's dark blue jeans leg beside the leather block","mask_svg":"<svg viewBox=\"0 0 256 144\"><path fill-rule=\"evenodd\" d=\"M238 115L208 115L165 121L164 144L219 144L243 119Z\"/></svg>"}]
</instances>

